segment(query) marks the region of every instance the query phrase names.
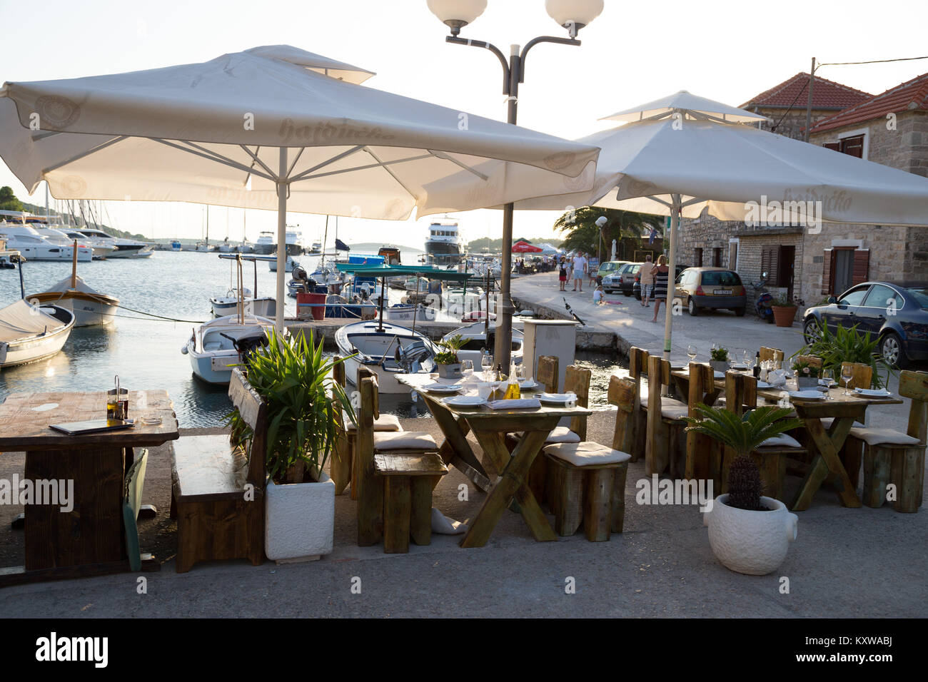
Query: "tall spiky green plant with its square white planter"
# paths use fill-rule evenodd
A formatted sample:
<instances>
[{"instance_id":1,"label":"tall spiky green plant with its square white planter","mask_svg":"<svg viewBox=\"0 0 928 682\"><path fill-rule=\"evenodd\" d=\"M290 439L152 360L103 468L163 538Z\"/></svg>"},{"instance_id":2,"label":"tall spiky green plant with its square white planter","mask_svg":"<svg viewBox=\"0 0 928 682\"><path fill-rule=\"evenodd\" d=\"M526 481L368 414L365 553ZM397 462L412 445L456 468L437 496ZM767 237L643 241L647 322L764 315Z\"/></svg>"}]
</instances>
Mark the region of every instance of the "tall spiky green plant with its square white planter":
<instances>
[{"instance_id":1,"label":"tall spiky green plant with its square white planter","mask_svg":"<svg viewBox=\"0 0 928 682\"><path fill-rule=\"evenodd\" d=\"M323 468L344 437L337 406L352 418L354 410L332 379L332 367L343 360L324 356L312 331L309 341L273 330L269 336L248 367L267 409L264 553L278 562L316 560L331 552L334 537L335 484ZM251 440L238 412L228 420L238 443Z\"/></svg>"}]
</instances>

